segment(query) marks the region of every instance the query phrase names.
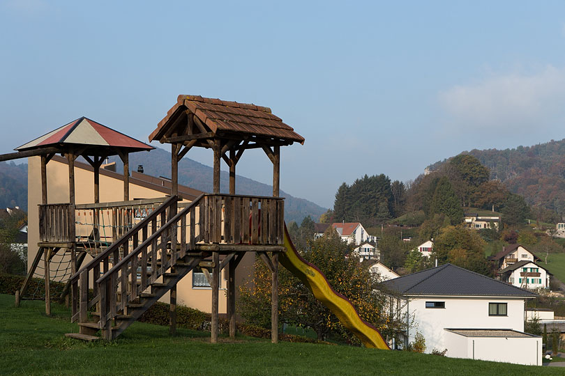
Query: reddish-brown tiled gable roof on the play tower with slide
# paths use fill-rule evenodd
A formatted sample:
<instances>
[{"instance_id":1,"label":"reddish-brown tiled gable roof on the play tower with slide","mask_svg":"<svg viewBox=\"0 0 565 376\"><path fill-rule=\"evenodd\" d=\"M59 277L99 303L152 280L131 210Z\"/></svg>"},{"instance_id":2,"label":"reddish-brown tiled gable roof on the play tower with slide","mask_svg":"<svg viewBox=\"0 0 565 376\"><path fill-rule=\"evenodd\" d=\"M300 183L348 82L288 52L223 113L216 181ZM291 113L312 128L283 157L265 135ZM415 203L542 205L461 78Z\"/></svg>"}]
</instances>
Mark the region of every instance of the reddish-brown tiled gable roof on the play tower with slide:
<instances>
[{"instance_id":1,"label":"reddish-brown tiled gable roof on the play tower with slide","mask_svg":"<svg viewBox=\"0 0 565 376\"><path fill-rule=\"evenodd\" d=\"M169 109L157 129L149 135L149 141L159 139L165 131L163 127L178 111L194 113L214 133L218 131L236 132L274 139L285 139L304 143L304 138L294 129L283 123L271 113L269 107L201 97L199 95L179 95L176 104Z\"/></svg>"}]
</instances>

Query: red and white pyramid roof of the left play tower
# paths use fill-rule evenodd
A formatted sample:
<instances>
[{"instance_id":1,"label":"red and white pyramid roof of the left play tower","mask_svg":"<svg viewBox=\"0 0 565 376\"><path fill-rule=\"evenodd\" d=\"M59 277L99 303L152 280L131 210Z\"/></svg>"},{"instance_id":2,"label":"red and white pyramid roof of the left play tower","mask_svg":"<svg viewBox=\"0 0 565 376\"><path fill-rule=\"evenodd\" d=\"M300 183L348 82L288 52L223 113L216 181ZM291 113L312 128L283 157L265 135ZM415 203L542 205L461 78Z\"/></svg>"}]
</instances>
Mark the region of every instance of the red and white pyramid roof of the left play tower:
<instances>
[{"instance_id":1,"label":"red and white pyramid roof of the left play tower","mask_svg":"<svg viewBox=\"0 0 565 376\"><path fill-rule=\"evenodd\" d=\"M93 147L126 148L128 151L153 150L153 146L137 141L89 118L78 118L56 130L25 143L15 150L31 150L47 146L78 144ZM114 155L115 152L112 152Z\"/></svg>"}]
</instances>

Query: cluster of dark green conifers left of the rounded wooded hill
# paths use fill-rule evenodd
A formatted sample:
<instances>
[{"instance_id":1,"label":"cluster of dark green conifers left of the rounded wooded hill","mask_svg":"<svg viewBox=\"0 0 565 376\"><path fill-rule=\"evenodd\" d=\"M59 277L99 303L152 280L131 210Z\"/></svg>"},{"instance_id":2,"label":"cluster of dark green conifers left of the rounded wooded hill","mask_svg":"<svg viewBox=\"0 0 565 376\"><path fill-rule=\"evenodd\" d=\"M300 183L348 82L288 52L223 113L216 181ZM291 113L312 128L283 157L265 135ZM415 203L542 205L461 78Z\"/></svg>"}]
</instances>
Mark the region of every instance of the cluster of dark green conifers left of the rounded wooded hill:
<instances>
[{"instance_id":1,"label":"cluster of dark green conifers left of the rounded wooded hill","mask_svg":"<svg viewBox=\"0 0 565 376\"><path fill-rule=\"evenodd\" d=\"M333 203L333 221L361 222L372 226L384 219L402 214L404 188L395 182L395 194L391 189L391 180L384 174L368 176L348 186L343 183L336 193ZM395 204L396 203L396 204Z\"/></svg>"}]
</instances>

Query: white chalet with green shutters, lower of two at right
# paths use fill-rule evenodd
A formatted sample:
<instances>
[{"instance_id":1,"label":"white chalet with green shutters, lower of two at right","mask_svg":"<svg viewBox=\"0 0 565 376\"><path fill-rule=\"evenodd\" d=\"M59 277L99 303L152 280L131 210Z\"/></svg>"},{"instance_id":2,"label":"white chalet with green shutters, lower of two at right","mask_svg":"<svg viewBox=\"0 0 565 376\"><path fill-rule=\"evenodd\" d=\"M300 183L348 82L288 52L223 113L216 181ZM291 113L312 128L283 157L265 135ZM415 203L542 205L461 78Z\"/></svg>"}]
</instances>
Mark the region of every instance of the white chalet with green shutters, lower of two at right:
<instances>
[{"instance_id":1,"label":"white chalet with green shutters, lower of two at right","mask_svg":"<svg viewBox=\"0 0 565 376\"><path fill-rule=\"evenodd\" d=\"M547 269L530 260L518 261L502 270L498 274L502 280L519 288L549 288L550 272Z\"/></svg>"}]
</instances>

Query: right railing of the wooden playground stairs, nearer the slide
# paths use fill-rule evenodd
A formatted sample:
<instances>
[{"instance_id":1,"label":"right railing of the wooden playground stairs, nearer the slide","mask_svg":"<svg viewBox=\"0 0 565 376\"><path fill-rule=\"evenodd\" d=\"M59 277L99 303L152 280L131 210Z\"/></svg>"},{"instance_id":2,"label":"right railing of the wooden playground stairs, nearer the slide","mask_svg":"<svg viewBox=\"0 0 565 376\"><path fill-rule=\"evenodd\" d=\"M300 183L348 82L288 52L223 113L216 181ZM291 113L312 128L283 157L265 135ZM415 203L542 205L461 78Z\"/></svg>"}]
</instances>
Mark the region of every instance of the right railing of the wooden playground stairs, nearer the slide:
<instances>
[{"instance_id":1,"label":"right railing of the wooden playground stairs, nearer the slide","mask_svg":"<svg viewBox=\"0 0 565 376\"><path fill-rule=\"evenodd\" d=\"M156 282L167 272L167 269L173 267L179 258L184 258L188 250L193 249L195 243L201 240L199 234L197 235L196 211L203 203L203 196L188 204L166 224L154 231L153 235L144 237L139 246L96 280L100 292L99 325L103 337L111 339L112 319L119 311L126 308L126 304L137 299L140 292ZM167 253L169 242L170 250ZM86 278L86 273L84 276L81 274L81 285L86 283L83 282ZM117 292L120 292L120 301L116 299ZM83 308L80 311L82 312Z\"/></svg>"}]
</instances>

